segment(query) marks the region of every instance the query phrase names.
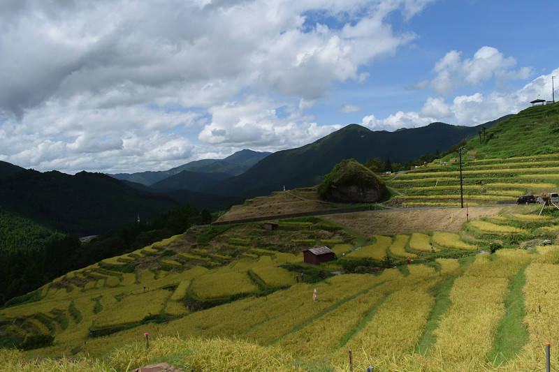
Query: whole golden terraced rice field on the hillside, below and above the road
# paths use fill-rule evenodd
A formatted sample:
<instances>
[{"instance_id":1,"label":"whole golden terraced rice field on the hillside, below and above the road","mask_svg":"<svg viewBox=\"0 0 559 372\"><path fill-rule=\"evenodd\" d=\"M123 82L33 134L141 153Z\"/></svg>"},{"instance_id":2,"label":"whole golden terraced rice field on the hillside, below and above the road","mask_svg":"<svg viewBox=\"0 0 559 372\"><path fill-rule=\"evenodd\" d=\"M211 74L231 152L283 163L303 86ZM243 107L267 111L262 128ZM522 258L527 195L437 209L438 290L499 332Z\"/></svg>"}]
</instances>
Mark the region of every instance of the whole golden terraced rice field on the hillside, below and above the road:
<instances>
[{"instance_id":1,"label":"whole golden terraced rice field on the hillside, below and above the road","mask_svg":"<svg viewBox=\"0 0 559 372\"><path fill-rule=\"evenodd\" d=\"M470 200L493 204L503 195L514 200L555 187L553 177L510 181L511 174L529 173L530 159L471 159L466 174L488 180L465 188ZM535 174L559 166L559 156L537 159L543 168ZM436 167L395 177L393 185L413 194L395 203L456 202L456 190L446 195L454 171ZM197 338L208 348L213 342L226 348L217 354L234 355L233 342L264 355L273 350L275 360L296 360L290 371L349 371L350 349L355 371L370 365L379 371L543 370L542 345L559 338L559 290L542 283L559 280L559 246L539 244L558 241L559 212L481 208L468 216L462 209L401 212L418 221L431 216L412 231L400 225L404 231L375 232L367 219L374 214L328 216L282 221L272 232L239 225L176 252L171 241L153 244L57 278L41 288L38 302L1 309L0 329L10 337L52 336L52 345L29 352L36 355L101 357L128 350L122 355L139 361L147 359L133 356L154 356L164 345L175 350ZM305 264L302 251L319 245L331 246L338 260ZM313 282L296 281L301 270ZM145 332L157 345L153 351L144 348ZM112 360L120 365L118 353ZM552 368L558 368L555 361Z\"/></svg>"}]
</instances>

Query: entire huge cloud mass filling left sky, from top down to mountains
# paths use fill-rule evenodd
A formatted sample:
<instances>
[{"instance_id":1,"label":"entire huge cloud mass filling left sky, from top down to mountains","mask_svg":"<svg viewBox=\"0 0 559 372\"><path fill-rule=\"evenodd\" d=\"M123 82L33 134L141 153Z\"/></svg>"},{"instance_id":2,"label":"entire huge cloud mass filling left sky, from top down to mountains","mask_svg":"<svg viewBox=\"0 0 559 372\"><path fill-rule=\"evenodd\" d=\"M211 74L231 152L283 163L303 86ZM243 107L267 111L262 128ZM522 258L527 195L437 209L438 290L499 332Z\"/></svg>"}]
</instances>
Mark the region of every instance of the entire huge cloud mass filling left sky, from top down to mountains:
<instances>
[{"instance_id":1,"label":"entire huge cloud mass filling left sky, from top down to mountains","mask_svg":"<svg viewBox=\"0 0 559 372\"><path fill-rule=\"evenodd\" d=\"M308 143L336 127L305 110L414 40L388 16L409 20L430 2L3 1L0 158L157 170Z\"/></svg>"}]
</instances>

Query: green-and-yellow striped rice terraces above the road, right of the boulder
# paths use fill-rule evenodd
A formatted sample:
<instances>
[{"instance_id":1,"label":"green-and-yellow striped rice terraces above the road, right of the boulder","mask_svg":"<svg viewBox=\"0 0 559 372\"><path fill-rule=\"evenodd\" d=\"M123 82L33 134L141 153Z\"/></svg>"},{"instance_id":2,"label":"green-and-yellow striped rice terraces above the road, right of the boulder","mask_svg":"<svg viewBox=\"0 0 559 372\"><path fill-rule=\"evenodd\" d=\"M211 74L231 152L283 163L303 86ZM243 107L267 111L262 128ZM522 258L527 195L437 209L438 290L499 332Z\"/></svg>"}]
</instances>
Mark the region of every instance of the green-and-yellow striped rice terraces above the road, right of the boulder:
<instances>
[{"instance_id":1,"label":"green-and-yellow striped rice terraces above the road, right of the boulder","mask_svg":"<svg viewBox=\"0 0 559 372\"><path fill-rule=\"evenodd\" d=\"M539 195L558 191L559 157L557 154L516 158L485 158L463 156L462 197L460 196L460 167L457 162L419 167L405 174L386 179L386 184L404 195L389 205L470 206L479 204L514 203L521 195Z\"/></svg>"}]
</instances>

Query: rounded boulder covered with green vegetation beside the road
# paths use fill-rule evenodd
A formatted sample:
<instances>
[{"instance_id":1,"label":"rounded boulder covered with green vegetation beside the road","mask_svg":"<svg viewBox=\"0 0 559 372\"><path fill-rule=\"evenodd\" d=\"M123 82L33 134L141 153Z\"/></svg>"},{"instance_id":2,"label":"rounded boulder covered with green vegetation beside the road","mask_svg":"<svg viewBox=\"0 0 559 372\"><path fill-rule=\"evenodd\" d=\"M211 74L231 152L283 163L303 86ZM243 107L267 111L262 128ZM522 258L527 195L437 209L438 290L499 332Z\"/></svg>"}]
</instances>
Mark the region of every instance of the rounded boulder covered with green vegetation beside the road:
<instances>
[{"instance_id":1,"label":"rounded boulder covered with green vegetation beside the road","mask_svg":"<svg viewBox=\"0 0 559 372\"><path fill-rule=\"evenodd\" d=\"M341 161L324 177L319 194L333 202L376 202L382 197L386 186L365 166L354 159Z\"/></svg>"}]
</instances>

